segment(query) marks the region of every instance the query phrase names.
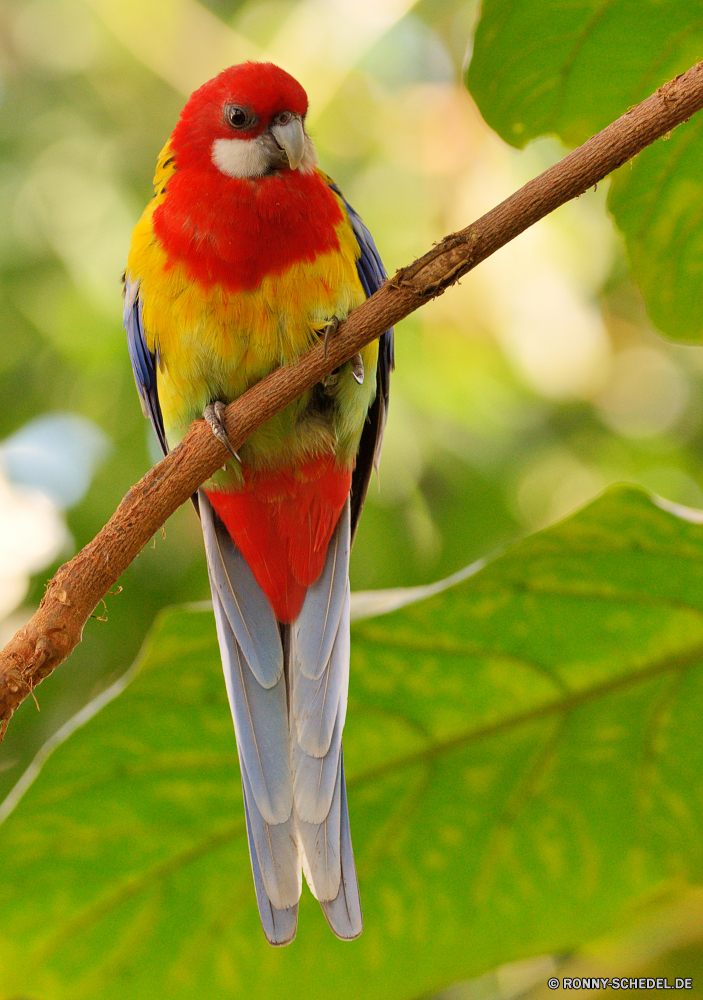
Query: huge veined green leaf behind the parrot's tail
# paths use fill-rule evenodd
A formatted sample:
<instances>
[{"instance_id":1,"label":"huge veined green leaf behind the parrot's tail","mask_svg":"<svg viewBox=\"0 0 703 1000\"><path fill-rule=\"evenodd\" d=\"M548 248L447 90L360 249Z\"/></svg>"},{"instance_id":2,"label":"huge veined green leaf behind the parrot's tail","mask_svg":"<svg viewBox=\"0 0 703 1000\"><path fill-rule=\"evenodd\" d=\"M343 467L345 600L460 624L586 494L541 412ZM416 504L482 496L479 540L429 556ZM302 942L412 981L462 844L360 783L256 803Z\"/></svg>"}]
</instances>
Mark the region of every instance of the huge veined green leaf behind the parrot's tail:
<instances>
[{"instance_id":1,"label":"huge veined green leaf behind the parrot's tail","mask_svg":"<svg viewBox=\"0 0 703 1000\"><path fill-rule=\"evenodd\" d=\"M305 891L265 943L211 613L177 608L0 828L3 995L410 1000L700 880L700 523L613 488L352 657L358 941Z\"/></svg>"}]
</instances>

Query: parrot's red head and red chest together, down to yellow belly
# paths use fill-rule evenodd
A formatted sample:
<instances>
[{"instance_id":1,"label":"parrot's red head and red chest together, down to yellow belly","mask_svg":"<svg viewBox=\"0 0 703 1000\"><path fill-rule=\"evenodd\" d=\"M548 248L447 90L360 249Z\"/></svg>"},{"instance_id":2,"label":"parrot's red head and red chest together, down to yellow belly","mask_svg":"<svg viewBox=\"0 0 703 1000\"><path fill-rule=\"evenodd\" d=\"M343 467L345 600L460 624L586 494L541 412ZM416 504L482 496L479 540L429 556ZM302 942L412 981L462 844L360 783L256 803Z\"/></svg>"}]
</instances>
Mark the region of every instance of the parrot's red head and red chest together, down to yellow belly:
<instances>
[{"instance_id":1,"label":"parrot's red head and red chest together, down to yellow belly","mask_svg":"<svg viewBox=\"0 0 703 1000\"><path fill-rule=\"evenodd\" d=\"M339 249L342 211L314 169L307 106L278 66L242 63L183 109L153 225L171 262L183 261L203 286L256 288L264 275Z\"/></svg>"}]
</instances>

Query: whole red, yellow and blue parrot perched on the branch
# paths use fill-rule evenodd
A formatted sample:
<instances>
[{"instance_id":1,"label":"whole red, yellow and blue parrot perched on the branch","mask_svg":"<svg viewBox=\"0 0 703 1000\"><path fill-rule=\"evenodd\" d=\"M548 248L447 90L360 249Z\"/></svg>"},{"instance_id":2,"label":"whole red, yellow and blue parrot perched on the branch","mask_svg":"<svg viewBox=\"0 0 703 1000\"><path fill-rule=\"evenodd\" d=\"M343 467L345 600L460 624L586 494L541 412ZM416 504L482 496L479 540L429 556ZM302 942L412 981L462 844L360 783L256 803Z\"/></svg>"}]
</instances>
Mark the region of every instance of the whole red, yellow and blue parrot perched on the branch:
<instances>
[{"instance_id":1,"label":"whole red, yellow and blue parrot perched on the branch","mask_svg":"<svg viewBox=\"0 0 703 1000\"><path fill-rule=\"evenodd\" d=\"M378 470L393 330L236 452L222 414L384 282L376 245L318 167L308 98L266 62L186 102L124 273L124 328L164 454L204 418L228 449L194 503L234 721L267 940L295 937L302 876L341 940L362 931L344 780L349 553Z\"/></svg>"}]
</instances>

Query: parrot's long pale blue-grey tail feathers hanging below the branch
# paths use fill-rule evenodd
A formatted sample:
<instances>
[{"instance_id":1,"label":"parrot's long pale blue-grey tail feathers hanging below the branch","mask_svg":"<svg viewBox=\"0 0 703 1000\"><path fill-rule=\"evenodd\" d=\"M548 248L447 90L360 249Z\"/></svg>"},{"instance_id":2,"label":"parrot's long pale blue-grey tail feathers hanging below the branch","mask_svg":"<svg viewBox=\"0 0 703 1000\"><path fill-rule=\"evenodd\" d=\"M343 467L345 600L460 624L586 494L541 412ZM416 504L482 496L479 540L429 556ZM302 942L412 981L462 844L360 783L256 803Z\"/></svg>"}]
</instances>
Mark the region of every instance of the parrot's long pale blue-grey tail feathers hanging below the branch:
<instances>
[{"instance_id":1,"label":"parrot's long pale blue-grey tail feathers hanging below the branch","mask_svg":"<svg viewBox=\"0 0 703 1000\"><path fill-rule=\"evenodd\" d=\"M349 501L293 625L271 606L202 490L215 621L234 719L264 933L295 937L301 869L334 933L362 930L344 787Z\"/></svg>"}]
</instances>

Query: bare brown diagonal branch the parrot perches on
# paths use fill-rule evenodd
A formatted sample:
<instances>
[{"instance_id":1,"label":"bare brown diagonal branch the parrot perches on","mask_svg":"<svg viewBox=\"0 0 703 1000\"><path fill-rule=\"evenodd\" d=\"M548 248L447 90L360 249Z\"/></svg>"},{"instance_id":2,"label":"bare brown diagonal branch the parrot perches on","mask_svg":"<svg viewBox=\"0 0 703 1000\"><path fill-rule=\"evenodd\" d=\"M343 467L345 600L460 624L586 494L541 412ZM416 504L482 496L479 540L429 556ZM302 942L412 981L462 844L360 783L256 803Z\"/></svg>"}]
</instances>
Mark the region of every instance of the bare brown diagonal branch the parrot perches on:
<instances>
[{"instance_id":1,"label":"bare brown diagonal branch the parrot perches on","mask_svg":"<svg viewBox=\"0 0 703 1000\"><path fill-rule=\"evenodd\" d=\"M402 268L339 327L326 357L322 344L317 345L296 365L278 368L227 407L234 447L388 327L701 107L703 63L698 63L473 225ZM181 444L132 487L93 541L59 569L32 620L0 653L0 736L20 702L80 642L89 615L137 553L226 458L205 423L196 421Z\"/></svg>"}]
</instances>

